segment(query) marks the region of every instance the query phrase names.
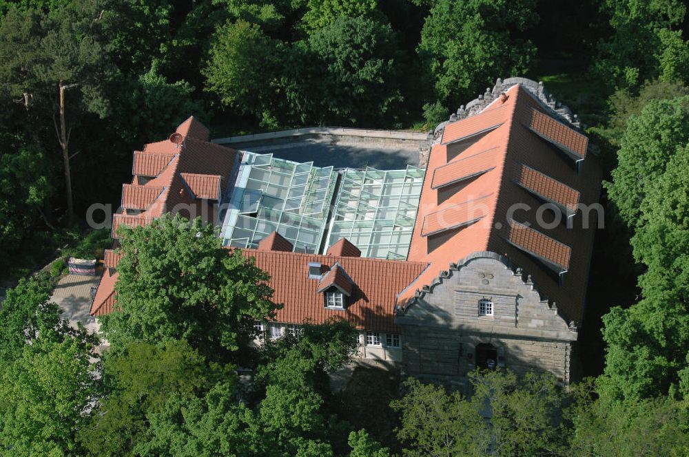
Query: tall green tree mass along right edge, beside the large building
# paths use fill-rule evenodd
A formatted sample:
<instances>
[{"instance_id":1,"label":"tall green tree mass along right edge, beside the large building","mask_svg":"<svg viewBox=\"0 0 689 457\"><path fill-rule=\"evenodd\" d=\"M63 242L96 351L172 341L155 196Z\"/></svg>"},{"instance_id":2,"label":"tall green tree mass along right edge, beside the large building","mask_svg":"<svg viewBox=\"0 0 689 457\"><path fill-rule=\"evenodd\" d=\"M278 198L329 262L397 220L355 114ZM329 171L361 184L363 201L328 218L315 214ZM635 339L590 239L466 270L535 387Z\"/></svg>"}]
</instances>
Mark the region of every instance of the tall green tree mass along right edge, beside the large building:
<instances>
[{"instance_id":1,"label":"tall green tree mass along right edge, beside the large building","mask_svg":"<svg viewBox=\"0 0 689 457\"><path fill-rule=\"evenodd\" d=\"M610 396L657 396L678 385L681 394L689 395L689 383L681 381L689 370L687 170L689 144L670 153L665 171L645 188L644 223L631 240L635 258L648 268L639 277L644 298L604 317L608 349L599 383Z\"/></svg>"}]
</instances>

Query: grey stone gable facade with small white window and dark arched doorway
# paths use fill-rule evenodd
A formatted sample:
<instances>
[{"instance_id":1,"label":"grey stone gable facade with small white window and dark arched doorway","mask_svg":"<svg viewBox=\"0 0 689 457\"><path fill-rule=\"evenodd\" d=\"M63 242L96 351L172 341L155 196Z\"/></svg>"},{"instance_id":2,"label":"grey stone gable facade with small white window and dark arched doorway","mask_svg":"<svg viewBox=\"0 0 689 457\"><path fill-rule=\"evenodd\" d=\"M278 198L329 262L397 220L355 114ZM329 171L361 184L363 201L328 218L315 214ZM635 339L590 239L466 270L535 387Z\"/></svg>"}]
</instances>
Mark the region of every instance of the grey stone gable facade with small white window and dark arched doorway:
<instances>
[{"instance_id":1,"label":"grey stone gable facade with small white window and dark arched doorway","mask_svg":"<svg viewBox=\"0 0 689 457\"><path fill-rule=\"evenodd\" d=\"M480 315L481 300L491 303L492 315ZM528 275L495 253L474 253L451 265L398 310L395 323L402 327L402 367L409 376L462 385L489 357L517 374L535 368L562 383L572 379L577 329Z\"/></svg>"}]
</instances>

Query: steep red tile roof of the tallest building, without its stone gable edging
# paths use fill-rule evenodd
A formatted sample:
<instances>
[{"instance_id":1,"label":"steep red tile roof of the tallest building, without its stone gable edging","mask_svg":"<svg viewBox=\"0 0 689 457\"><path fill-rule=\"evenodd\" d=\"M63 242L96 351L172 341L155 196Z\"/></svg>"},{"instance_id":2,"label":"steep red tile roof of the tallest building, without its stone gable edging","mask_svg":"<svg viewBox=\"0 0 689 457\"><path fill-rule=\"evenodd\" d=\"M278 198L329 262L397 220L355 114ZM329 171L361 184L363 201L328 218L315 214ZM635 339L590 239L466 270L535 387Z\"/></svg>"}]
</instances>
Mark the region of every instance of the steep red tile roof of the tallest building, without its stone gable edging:
<instances>
[{"instance_id":1,"label":"steep red tile roof of the tallest building, without its stone gable edging","mask_svg":"<svg viewBox=\"0 0 689 457\"><path fill-rule=\"evenodd\" d=\"M456 264L472 253L489 251L505 255L513 264L523 268L532 276L542 295L557 301L558 309L568 319L580 321L595 221L592 224L594 228L583 229L584 216L579 211L572 216L573 229L567 229L564 224L544 229L538 226L535 213L542 204L541 199L552 200L567 209L573 208L577 193L578 200L584 204L597 202L600 167L595 157L589 156L577 173L569 159L555 154L534 131L537 129L540 134L547 134L548 141L564 145L582 158L586 153L586 137L545 114L534 114L533 106L539 102L520 85L511 87L506 94L508 97L504 103L496 101L480 114L446 125L442 142L433 145L407 257L417 262L429 262L430 266L400 293L398 302L402 307L408 306L418 291L432 284L450 264ZM502 105L494 107L495 103ZM447 143L475 138L485 131L490 133L471 142L456 160L448 164ZM453 165L455 162L489 148L495 151L491 171L467 180L451 195L442 186L438 188L441 182L451 182L453 176L455 179L465 176L462 167ZM482 164L482 167L488 166ZM436 177L435 171L438 170L446 173L438 175L442 179ZM444 198L440 198L441 193ZM453 225L447 220L455 224L471 220L459 209L461 204L477 195L486 195L483 220L465 225L461 231L447 232L442 237L428 236ZM516 204L526 204L528 210ZM520 210L517 211L520 222L529 222L533 229L517 232L513 228L509 221L515 209ZM429 244L431 238L433 249ZM562 284L554 279L546 262L568 269Z\"/></svg>"}]
</instances>

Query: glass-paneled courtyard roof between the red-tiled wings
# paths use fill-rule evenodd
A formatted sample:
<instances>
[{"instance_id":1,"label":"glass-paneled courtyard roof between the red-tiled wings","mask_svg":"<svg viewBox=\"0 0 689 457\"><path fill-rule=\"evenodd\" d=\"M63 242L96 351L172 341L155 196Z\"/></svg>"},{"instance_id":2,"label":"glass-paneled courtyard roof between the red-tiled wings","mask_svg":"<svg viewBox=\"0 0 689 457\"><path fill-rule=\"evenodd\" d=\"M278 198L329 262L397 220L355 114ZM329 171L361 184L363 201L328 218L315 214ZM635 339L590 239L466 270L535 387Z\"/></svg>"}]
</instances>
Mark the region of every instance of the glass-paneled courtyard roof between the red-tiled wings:
<instances>
[{"instance_id":1,"label":"glass-paneled courtyard roof between the red-tiled wings","mask_svg":"<svg viewBox=\"0 0 689 457\"><path fill-rule=\"evenodd\" d=\"M225 246L256 248L277 231L296 252L325 253L346 237L362 257L407 258L424 169L338 173L313 162L243 153L223 223Z\"/></svg>"}]
</instances>

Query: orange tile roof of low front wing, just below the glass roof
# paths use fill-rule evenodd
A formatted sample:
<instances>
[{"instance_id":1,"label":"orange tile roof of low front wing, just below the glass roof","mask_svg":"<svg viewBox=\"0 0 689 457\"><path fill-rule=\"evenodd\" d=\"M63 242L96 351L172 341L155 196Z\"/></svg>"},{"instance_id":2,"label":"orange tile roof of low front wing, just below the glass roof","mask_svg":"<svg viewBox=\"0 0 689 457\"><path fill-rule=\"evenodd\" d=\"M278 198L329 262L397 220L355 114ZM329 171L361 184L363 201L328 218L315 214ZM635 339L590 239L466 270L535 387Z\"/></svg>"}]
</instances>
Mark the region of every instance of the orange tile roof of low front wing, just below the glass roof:
<instances>
[{"instance_id":1,"label":"orange tile roof of low front wing, just below the glass roof","mask_svg":"<svg viewBox=\"0 0 689 457\"><path fill-rule=\"evenodd\" d=\"M395 297L426 268L425 262L335 257L332 255L285 253L241 249L247 259L254 257L256 266L271 276L269 286L275 290L273 301L285 306L276 320L285 323L324 323L342 317L356 328L380 332L400 332L393 322ZM309 262L332 266L339 264L351 277L352 289L347 308L325 308L318 293L319 279L309 279Z\"/></svg>"}]
</instances>

